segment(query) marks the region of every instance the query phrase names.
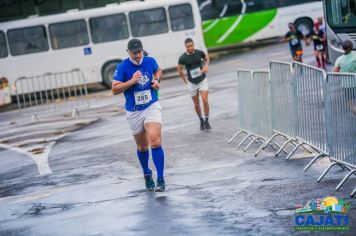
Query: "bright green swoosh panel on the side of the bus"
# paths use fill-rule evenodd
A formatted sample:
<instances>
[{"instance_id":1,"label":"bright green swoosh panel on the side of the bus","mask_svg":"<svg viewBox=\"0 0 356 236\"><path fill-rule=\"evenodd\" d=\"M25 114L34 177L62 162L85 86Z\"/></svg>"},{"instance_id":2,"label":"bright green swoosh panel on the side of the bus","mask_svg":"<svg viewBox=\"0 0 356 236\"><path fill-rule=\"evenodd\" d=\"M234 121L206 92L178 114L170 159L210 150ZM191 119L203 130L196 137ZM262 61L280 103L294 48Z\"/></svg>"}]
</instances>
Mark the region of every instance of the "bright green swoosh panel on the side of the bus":
<instances>
[{"instance_id":1,"label":"bright green swoosh panel on the side of the bus","mask_svg":"<svg viewBox=\"0 0 356 236\"><path fill-rule=\"evenodd\" d=\"M235 30L223 42L218 43L218 39L232 26L238 16L220 19L213 28L204 33L205 44L208 48L238 44L265 28L276 15L277 9L247 13ZM209 20L210 24L213 21ZM204 24L203 28L206 29L210 24Z\"/></svg>"}]
</instances>

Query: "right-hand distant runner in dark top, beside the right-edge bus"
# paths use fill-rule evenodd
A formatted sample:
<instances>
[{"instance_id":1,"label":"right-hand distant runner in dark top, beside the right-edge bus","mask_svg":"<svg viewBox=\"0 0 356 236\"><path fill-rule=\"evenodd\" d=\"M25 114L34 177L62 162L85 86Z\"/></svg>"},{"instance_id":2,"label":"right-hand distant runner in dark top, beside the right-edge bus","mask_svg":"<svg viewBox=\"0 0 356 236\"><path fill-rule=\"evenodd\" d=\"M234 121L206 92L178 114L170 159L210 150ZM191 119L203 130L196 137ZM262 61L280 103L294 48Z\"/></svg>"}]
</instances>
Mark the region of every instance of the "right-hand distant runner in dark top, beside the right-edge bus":
<instances>
[{"instance_id":1,"label":"right-hand distant runner in dark top, beside the right-edge bus","mask_svg":"<svg viewBox=\"0 0 356 236\"><path fill-rule=\"evenodd\" d=\"M320 23L314 23L314 30L311 32L309 39L313 40L314 44L314 55L318 68L325 69L326 63L326 34L320 28Z\"/></svg>"}]
</instances>

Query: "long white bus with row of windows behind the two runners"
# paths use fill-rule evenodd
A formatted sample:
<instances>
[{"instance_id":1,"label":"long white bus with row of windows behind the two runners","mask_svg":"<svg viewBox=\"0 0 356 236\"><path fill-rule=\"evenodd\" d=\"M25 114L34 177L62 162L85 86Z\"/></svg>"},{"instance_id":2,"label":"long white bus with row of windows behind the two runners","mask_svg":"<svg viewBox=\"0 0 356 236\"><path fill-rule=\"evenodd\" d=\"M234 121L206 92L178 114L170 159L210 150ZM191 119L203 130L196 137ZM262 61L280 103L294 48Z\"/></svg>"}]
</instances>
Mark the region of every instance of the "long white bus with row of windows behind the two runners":
<instances>
[{"instance_id":1,"label":"long white bus with row of windows behind the two runners","mask_svg":"<svg viewBox=\"0 0 356 236\"><path fill-rule=\"evenodd\" d=\"M72 69L80 69L87 83L111 87L131 38L141 39L168 69L177 65L187 37L206 51L196 0L130 1L8 21L0 23L0 77L9 80L12 95L19 77Z\"/></svg>"}]
</instances>

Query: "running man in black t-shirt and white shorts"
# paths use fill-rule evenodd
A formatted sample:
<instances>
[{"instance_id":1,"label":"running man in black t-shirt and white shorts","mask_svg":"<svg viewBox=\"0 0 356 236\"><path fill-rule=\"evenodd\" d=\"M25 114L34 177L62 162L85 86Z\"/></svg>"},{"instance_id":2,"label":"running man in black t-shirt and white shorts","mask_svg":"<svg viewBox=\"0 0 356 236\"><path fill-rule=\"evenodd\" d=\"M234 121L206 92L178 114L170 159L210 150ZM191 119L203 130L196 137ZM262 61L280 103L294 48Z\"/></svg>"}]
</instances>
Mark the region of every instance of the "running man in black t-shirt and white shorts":
<instances>
[{"instance_id":1,"label":"running man in black t-shirt and white shorts","mask_svg":"<svg viewBox=\"0 0 356 236\"><path fill-rule=\"evenodd\" d=\"M187 85L194 102L195 112L200 120L200 130L210 130L209 124L209 85L206 74L208 72L209 57L203 51L194 48L194 41L187 38L184 42L186 52L178 60L177 70L180 78ZM187 71L186 78L183 68ZM204 115L202 116L199 95L203 101Z\"/></svg>"}]
</instances>

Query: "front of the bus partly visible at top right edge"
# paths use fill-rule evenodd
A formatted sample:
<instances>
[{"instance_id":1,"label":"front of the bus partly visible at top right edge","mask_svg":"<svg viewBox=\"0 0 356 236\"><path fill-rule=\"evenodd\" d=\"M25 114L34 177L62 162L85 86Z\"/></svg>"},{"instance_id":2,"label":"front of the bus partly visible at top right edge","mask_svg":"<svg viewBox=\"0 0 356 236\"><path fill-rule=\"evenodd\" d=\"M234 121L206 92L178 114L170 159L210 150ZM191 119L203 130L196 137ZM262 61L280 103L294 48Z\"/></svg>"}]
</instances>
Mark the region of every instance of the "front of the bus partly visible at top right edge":
<instances>
[{"instance_id":1,"label":"front of the bus partly visible at top right edge","mask_svg":"<svg viewBox=\"0 0 356 236\"><path fill-rule=\"evenodd\" d=\"M329 60L344 53L341 42L351 40L356 53L356 0L324 0Z\"/></svg>"}]
</instances>

